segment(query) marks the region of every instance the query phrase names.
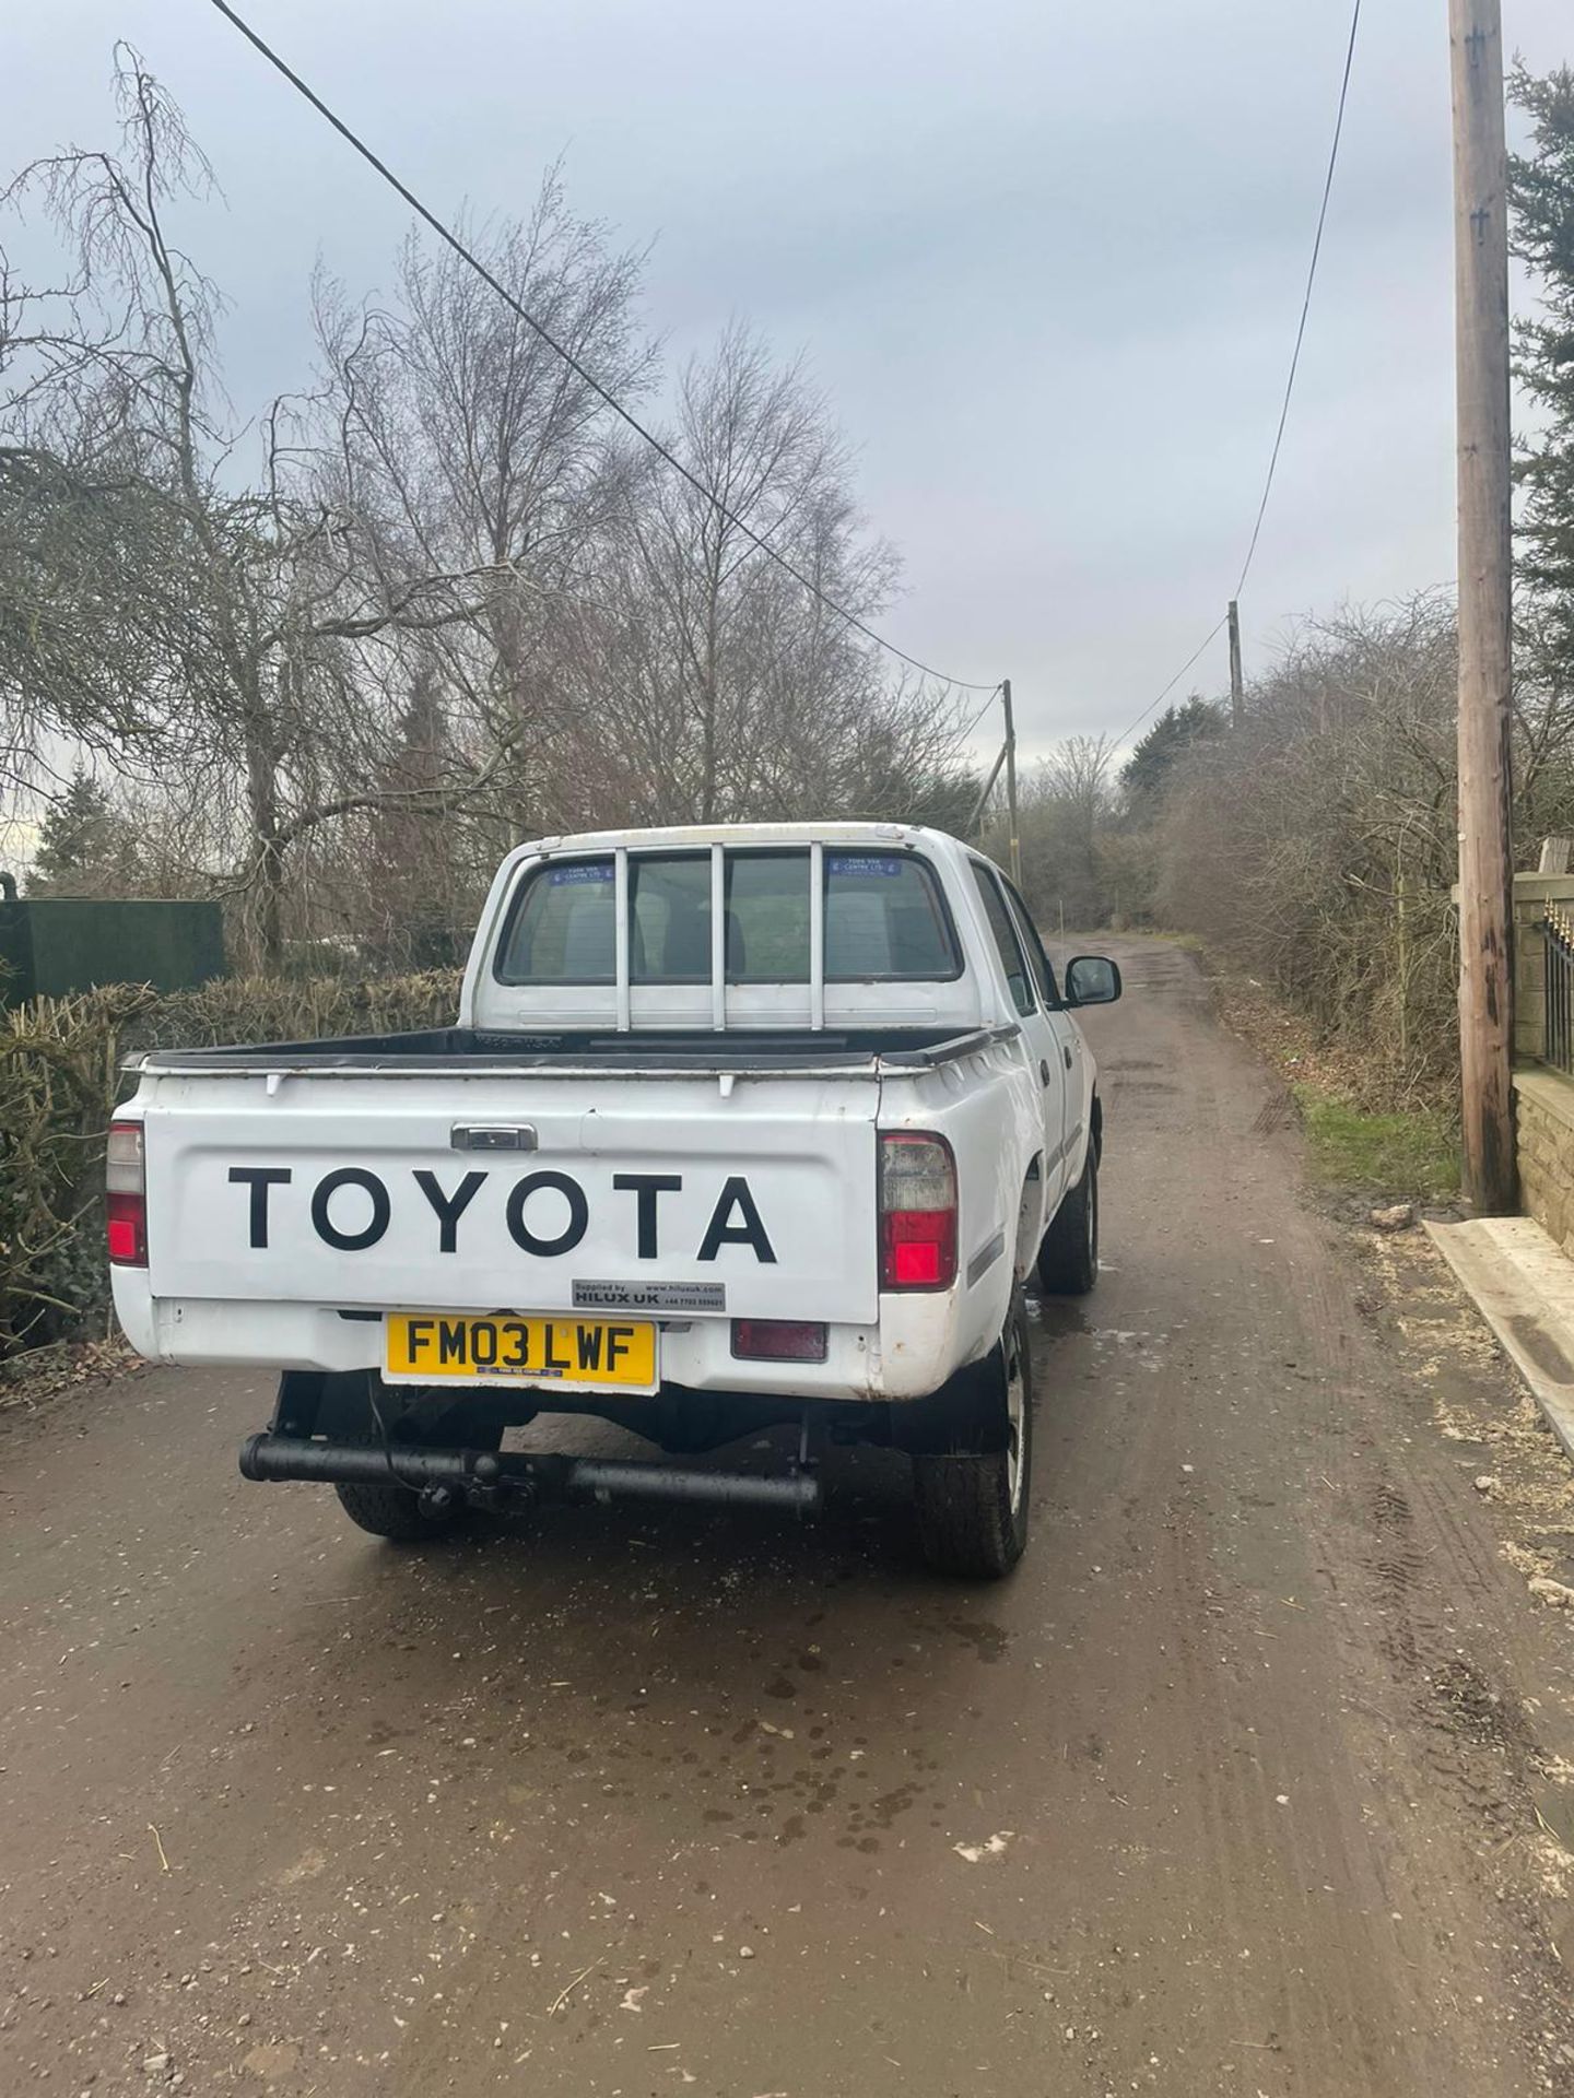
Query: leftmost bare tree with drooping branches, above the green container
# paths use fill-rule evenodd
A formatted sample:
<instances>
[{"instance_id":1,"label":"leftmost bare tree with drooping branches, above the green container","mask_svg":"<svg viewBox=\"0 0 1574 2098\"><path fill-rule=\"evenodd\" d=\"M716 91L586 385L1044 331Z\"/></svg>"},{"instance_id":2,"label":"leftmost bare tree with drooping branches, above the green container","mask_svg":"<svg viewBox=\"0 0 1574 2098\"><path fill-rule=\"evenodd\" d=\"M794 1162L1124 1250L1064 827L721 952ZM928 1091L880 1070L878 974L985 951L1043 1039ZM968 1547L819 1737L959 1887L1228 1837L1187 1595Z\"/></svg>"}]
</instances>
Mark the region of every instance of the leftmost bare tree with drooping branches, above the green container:
<instances>
[{"instance_id":1,"label":"leftmost bare tree with drooping branches, above the green container","mask_svg":"<svg viewBox=\"0 0 1574 2098\"><path fill-rule=\"evenodd\" d=\"M6 741L65 736L199 801L277 961L290 852L386 799L392 663L472 619L493 577L367 564L365 535L302 468L290 403L256 432L246 485L214 407L216 294L168 229L208 166L134 52L118 57L122 153L57 155L8 193L42 201L71 260L55 287L0 279ZM445 806L493 764L413 791Z\"/></svg>"}]
</instances>

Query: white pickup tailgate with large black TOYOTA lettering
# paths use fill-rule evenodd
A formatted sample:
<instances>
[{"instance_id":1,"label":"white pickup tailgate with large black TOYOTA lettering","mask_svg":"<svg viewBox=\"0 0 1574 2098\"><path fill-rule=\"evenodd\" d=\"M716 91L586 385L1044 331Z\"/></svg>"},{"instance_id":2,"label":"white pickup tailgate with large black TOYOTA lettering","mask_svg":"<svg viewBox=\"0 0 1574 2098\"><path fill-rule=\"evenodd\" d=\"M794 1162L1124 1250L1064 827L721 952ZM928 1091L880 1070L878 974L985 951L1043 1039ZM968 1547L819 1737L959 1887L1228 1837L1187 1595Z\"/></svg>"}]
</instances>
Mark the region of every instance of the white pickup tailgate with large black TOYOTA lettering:
<instances>
[{"instance_id":1,"label":"white pickup tailgate with large black TOYOTA lettering","mask_svg":"<svg viewBox=\"0 0 1574 2098\"><path fill-rule=\"evenodd\" d=\"M877 1315L871 1076L204 1074L145 1101L155 1297Z\"/></svg>"}]
</instances>

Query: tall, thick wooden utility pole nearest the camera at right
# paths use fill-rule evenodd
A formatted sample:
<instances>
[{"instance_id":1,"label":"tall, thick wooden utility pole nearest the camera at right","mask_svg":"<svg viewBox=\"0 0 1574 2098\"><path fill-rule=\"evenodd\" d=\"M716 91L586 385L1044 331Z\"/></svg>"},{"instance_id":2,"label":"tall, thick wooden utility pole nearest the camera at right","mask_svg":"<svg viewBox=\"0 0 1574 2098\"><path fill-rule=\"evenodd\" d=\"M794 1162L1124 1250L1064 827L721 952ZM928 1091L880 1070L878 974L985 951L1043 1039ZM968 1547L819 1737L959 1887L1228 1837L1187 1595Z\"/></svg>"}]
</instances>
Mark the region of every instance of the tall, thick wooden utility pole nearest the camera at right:
<instances>
[{"instance_id":1,"label":"tall, thick wooden utility pole nearest the camera at right","mask_svg":"<svg viewBox=\"0 0 1574 2098\"><path fill-rule=\"evenodd\" d=\"M1459 1066L1465 1194L1515 1208L1509 222L1501 0L1448 0L1459 371Z\"/></svg>"}]
</instances>

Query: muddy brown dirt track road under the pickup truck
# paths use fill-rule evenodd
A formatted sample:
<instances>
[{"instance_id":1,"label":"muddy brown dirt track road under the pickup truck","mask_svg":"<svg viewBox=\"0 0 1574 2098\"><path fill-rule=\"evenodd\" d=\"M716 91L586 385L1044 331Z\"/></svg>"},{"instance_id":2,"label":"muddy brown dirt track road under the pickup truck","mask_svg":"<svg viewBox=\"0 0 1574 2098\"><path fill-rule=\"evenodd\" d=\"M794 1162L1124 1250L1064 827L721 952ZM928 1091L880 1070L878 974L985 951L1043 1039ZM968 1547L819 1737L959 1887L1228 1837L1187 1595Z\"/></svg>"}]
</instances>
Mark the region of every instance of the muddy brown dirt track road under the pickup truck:
<instances>
[{"instance_id":1,"label":"muddy brown dirt track road under the pickup truck","mask_svg":"<svg viewBox=\"0 0 1574 2098\"><path fill-rule=\"evenodd\" d=\"M6 1427L0 2092L1574 2090L1574 1626L1501 1550L1559 1460L1125 961L1005 1586L919 1569L898 1460L409 1557L239 1481L262 1378Z\"/></svg>"}]
</instances>

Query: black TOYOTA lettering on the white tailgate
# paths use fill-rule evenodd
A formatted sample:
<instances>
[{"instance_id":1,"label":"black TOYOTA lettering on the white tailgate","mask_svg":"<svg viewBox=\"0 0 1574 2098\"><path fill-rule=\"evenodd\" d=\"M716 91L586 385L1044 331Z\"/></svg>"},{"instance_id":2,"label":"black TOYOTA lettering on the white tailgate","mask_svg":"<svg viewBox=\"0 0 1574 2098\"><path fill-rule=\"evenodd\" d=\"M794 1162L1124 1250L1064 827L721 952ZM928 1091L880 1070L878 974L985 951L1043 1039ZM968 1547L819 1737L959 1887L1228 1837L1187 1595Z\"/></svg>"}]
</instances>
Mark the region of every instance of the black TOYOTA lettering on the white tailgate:
<instances>
[{"instance_id":1,"label":"black TOYOTA lettering on the white tailgate","mask_svg":"<svg viewBox=\"0 0 1574 2098\"><path fill-rule=\"evenodd\" d=\"M311 1190L311 1227L336 1253L365 1253L386 1236L395 1200L413 1202L422 1215L432 1219L437 1250L458 1253L460 1223L491 1177L491 1173L472 1169L453 1185L445 1185L437 1173L420 1166L405 1183L365 1166L336 1166L332 1173L323 1173ZM248 1242L254 1248L267 1248L275 1223L275 1194L294 1187L294 1166L231 1166L229 1181L243 1190L239 1202ZM619 1221L625 1223L634 1240L636 1259L661 1259L661 1198L680 1194L682 1185L682 1173L613 1173L613 1194L623 1198ZM571 1173L544 1166L535 1173L523 1173L510 1183L504 1221L520 1253L556 1259L562 1253L573 1253L590 1229L590 1198ZM722 1246L749 1246L762 1265L777 1261L743 1173L730 1173L722 1181L693 1257L714 1261Z\"/></svg>"}]
</instances>

